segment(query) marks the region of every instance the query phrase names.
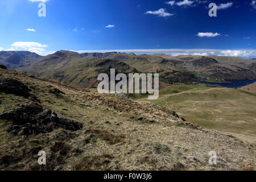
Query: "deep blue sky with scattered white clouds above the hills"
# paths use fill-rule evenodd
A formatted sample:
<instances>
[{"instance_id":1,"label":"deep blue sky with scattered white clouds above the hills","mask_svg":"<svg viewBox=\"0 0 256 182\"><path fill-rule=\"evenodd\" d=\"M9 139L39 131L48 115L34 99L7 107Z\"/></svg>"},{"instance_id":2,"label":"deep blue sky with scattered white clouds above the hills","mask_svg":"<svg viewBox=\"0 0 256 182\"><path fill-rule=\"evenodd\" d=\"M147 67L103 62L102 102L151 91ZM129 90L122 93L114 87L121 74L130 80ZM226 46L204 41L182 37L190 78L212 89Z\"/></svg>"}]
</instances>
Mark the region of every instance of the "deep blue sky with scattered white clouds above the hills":
<instances>
[{"instance_id":1,"label":"deep blue sky with scattered white clouds above the hills","mask_svg":"<svg viewBox=\"0 0 256 182\"><path fill-rule=\"evenodd\" d=\"M0 20L0 50L256 57L254 0L0 0Z\"/></svg>"}]
</instances>

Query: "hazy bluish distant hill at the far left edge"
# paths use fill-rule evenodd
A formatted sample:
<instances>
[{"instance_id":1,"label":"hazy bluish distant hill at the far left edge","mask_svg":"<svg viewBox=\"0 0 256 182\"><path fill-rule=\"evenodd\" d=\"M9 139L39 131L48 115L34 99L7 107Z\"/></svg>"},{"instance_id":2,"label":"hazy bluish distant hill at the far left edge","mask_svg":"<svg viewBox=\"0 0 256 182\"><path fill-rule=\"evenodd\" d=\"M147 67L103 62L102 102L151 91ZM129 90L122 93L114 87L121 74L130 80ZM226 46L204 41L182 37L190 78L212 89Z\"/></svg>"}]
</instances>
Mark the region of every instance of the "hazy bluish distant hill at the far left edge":
<instances>
[{"instance_id":1,"label":"hazy bluish distant hill at the far left edge","mask_svg":"<svg viewBox=\"0 0 256 182\"><path fill-rule=\"evenodd\" d=\"M42 57L29 51L0 51L0 64L9 69L26 68Z\"/></svg>"}]
</instances>

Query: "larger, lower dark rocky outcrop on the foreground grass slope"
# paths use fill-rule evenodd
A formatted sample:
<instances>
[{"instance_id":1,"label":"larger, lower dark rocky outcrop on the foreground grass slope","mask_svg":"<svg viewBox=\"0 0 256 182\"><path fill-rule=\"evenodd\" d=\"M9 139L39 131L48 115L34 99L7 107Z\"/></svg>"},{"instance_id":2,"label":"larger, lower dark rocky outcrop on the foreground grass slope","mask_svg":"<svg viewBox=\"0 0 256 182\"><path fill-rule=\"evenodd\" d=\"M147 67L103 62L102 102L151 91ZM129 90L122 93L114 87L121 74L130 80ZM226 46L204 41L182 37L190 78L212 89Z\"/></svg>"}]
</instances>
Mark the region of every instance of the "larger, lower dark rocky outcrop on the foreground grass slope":
<instances>
[{"instance_id":1,"label":"larger, lower dark rocky outcrop on the foreground grass slope","mask_svg":"<svg viewBox=\"0 0 256 182\"><path fill-rule=\"evenodd\" d=\"M37 135L58 128L70 131L82 129L81 123L59 118L55 112L43 110L40 105L16 105L15 110L7 110L0 114L0 119L13 121L13 126L8 130L13 135Z\"/></svg>"}]
</instances>

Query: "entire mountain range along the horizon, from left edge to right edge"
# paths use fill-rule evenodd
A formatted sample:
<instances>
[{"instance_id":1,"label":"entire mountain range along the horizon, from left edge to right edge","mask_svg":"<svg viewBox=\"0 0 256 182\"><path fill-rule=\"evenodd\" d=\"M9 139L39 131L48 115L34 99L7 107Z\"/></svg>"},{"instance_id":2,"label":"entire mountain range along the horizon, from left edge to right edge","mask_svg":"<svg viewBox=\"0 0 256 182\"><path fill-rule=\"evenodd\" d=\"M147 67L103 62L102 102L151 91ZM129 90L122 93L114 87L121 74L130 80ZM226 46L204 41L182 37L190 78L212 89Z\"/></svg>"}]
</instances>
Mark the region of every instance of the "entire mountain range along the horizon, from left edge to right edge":
<instances>
[{"instance_id":1,"label":"entire mountain range along the horizon, from left edge to right edge","mask_svg":"<svg viewBox=\"0 0 256 182\"><path fill-rule=\"evenodd\" d=\"M256 62L241 57L135 55L121 52L79 54L73 51L57 51L47 56L24 51L2 51L0 55L0 63L9 69L81 88L96 87L98 74L110 74L110 68L115 68L117 73L159 73L160 85L256 79Z\"/></svg>"}]
</instances>

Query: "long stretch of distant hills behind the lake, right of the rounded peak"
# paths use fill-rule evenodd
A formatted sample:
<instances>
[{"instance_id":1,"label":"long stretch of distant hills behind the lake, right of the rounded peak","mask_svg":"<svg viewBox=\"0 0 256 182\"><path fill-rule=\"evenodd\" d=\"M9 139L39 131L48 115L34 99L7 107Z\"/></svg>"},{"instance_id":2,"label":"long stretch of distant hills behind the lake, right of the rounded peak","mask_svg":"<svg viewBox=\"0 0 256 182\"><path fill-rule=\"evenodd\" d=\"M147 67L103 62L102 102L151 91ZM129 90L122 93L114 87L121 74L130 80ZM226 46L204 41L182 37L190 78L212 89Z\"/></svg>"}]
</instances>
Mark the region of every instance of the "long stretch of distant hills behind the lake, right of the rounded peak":
<instances>
[{"instance_id":1,"label":"long stretch of distant hills behind the lake, right of the rounded peak","mask_svg":"<svg viewBox=\"0 0 256 182\"><path fill-rule=\"evenodd\" d=\"M166 82L180 80L187 83L205 79L229 81L256 78L256 63L241 57L192 55L172 57L165 54L135 55L119 52L83 53L82 56L123 61L141 72L160 73L163 81Z\"/></svg>"}]
</instances>

